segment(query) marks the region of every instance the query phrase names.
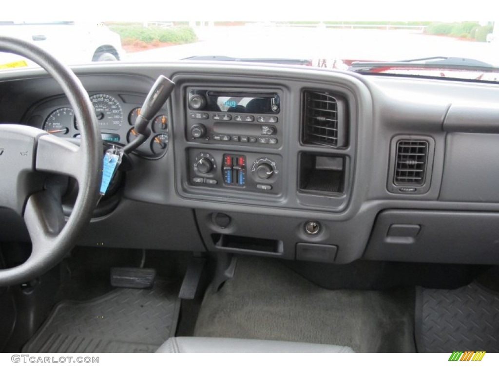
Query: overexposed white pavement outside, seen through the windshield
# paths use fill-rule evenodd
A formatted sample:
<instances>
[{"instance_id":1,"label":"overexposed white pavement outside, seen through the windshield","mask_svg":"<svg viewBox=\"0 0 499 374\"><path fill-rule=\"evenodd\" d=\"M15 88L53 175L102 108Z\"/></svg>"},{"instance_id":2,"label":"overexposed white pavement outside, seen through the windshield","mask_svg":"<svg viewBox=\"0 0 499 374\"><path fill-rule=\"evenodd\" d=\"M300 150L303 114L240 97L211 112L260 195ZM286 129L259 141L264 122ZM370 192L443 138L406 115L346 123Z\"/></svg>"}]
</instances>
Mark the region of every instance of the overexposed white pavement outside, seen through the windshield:
<instances>
[{"instance_id":1,"label":"overexposed white pavement outside, seen through the windshield","mask_svg":"<svg viewBox=\"0 0 499 374\"><path fill-rule=\"evenodd\" d=\"M459 56L499 65L499 43L431 36L416 30L233 26L197 30L200 41L129 53L130 61L171 61L194 55L401 60Z\"/></svg>"}]
</instances>

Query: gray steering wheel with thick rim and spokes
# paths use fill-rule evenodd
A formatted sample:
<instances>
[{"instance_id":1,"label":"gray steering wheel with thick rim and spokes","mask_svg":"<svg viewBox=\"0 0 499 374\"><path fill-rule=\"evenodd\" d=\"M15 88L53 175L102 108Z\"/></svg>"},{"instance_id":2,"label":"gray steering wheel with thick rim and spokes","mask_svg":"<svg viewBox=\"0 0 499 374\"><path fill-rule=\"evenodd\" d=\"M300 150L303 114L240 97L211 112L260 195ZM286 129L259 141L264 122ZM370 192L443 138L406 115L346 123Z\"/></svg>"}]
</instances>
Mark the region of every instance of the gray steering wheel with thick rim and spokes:
<instances>
[{"instance_id":1,"label":"gray steering wheel with thick rim and spokes","mask_svg":"<svg viewBox=\"0 0 499 374\"><path fill-rule=\"evenodd\" d=\"M7 286L43 274L74 246L97 203L103 151L95 110L70 69L41 48L15 38L0 37L0 52L27 57L43 67L62 87L81 130L78 147L41 129L0 125L0 150L3 151L0 207L13 209L23 217L32 243L31 255L24 263L0 270L0 286ZM51 188L53 184L43 178L49 175L47 173L70 176L78 182L78 197L67 222L62 211L61 191Z\"/></svg>"}]
</instances>

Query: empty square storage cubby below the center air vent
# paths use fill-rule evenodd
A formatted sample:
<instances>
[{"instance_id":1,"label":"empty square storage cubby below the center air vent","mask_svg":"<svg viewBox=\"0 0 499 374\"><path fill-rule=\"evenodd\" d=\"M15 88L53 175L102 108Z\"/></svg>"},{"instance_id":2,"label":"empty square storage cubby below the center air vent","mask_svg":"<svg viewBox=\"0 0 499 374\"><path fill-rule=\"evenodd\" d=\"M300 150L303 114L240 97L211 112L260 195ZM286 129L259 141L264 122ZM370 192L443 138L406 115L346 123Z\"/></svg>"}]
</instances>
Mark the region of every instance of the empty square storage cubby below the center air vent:
<instances>
[{"instance_id":1,"label":"empty square storage cubby below the center air vent","mask_svg":"<svg viewBox=\"0 0 499 374\"><path fill-rule=\"evenodd\" d=\"M343 193L343 157L301 153L299 165L299 189L302 192Z\"/></svg>"}]
</instances>

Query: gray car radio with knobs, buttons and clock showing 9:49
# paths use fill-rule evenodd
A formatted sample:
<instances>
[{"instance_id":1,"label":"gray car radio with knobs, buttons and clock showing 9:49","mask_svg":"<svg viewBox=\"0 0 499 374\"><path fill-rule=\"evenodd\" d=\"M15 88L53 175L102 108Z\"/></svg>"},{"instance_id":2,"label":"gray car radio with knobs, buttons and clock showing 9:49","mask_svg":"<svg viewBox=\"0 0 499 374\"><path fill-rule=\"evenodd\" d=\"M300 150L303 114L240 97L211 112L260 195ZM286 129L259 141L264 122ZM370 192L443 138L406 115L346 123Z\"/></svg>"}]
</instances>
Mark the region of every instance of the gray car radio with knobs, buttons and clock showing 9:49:
<instances>
[{"instance_id":1,"label":"gray car radio with knobs, buttons and clock showing 9:49","mask_svg":"<svg viewBox=\"0 0 499 374\"><path fill-rule=\"evenodd\" d=\"M186 138L197 143L279 148L280 97L272 91L191 88L186 105Z\"/></svg>"}]
</instances>

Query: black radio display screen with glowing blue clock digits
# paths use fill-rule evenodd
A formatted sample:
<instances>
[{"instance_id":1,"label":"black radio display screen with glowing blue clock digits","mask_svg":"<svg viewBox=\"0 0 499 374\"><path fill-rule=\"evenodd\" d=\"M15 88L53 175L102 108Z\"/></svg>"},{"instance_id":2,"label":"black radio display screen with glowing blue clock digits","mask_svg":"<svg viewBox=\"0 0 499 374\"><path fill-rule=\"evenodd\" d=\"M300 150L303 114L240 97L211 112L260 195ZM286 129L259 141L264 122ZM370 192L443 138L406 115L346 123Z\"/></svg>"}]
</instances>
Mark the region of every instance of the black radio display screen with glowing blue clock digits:
<instances>
[{"instance_id":1,"label":"black radio display screen with glowing blue clock digits","mask_svg":"<svg viewBox=\"0 0 499 374\"><path fill-rule=\"evenodd\" d=\"M253 114L277 114L280 111L279 95L273 92L195 92L206 97L206 106L202 109L205 111Z\"/></svg>"}]
</instances>

